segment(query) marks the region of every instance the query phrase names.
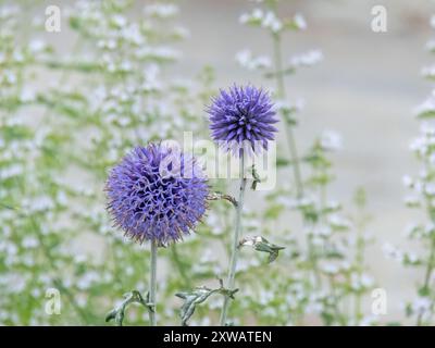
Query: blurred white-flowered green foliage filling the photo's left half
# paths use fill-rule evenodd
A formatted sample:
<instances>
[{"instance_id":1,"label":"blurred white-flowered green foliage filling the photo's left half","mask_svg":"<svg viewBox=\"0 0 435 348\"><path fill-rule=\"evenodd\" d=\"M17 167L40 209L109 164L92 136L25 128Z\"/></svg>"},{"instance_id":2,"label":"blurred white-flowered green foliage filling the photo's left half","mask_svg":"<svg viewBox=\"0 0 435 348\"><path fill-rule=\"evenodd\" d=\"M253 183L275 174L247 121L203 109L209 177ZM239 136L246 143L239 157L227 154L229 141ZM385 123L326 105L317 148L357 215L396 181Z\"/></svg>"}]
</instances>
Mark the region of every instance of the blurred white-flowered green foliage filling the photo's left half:
<instances>
[{"instance_id":1,"label":"blurred white-flowered green foliage filling the photo's left half","mask_svg":"<svg viewBox=\"0 0 435 348\"><path fill-rule=\"evenodd\" d=\"M42 22L35 23L34 40L20 30L27 27L20 7L1 8L2 324L101 324L126 290L147 290L148 251L127 244L107 216L107 170L133 144L171 138L177 129L206 133L197 115L212 73L163 78L179 55L173 44L186 34L174 18L177 7L150 4L138 21L130 20L132 5L74 2L63 12L75 41L64 55L42 41ZM59 83L38 89L46 74ZM192 268L197 238L188 248L191 259L175 247L165 253L177 270L160 284L167 297L191 278L214 275L207 261ZM61 315L45 312L51 287L60 290ZM171 308L162 315L174 319ZM135 308L128 323L146 316Z\"/></svg>"}]
</instances>

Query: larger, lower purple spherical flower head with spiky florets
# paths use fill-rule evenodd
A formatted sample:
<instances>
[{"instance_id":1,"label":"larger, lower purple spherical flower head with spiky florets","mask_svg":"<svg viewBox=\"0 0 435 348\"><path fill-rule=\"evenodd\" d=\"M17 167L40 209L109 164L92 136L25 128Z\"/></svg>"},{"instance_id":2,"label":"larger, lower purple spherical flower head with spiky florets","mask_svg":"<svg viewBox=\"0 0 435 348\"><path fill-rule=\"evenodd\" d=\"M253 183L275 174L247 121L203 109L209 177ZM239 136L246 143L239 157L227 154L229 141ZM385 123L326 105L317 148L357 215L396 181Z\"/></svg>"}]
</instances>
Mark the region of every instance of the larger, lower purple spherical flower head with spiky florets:
<instances>
[{"instance_id":1,"label":"larger, lower purple spherical flower head with spiky florets","mask_svg":"<svg viewBox=\"0 0 435 348\"><path fill-rule=\"evenodd\" d=\"M136 147L107 182L108 210L115 226L142 243L178 241L207 209L209 187L199 164L161 144Z\"/></svg>"}]
</instances>

